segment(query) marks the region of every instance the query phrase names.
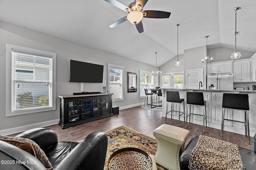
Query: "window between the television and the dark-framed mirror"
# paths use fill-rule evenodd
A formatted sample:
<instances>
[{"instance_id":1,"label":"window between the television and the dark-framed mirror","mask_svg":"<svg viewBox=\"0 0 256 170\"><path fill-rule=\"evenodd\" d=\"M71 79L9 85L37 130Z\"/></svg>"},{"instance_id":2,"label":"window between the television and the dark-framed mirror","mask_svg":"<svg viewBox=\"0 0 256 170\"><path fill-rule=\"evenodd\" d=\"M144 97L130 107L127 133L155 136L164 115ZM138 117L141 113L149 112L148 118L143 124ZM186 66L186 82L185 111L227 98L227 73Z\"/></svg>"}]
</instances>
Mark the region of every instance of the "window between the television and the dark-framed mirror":
<instances>
[{"instance_id":1,"label":"window between the television and the dark-framed mirror","mask_svg":"<svg viewBox=\"0 0 256 170\"><path fill-rule=\"evenodd\" d=\"M124 67L119 65L108 64L108 87L109 93L113 93L113 101L122 101L123 98L123 82Z\"/></svg>"}]
</instances>

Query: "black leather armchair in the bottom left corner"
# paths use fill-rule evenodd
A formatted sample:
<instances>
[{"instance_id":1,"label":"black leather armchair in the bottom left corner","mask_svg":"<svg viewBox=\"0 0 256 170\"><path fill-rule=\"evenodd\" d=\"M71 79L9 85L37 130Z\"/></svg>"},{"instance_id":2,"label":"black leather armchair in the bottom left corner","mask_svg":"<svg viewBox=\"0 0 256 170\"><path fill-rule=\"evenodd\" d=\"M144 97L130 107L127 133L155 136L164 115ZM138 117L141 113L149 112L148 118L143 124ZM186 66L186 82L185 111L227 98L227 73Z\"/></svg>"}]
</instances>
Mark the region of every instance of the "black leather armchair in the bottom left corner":
<instances>
[{"instance_id":1,"label":"black leather armchair in the bottom left corner","mask_svg":"<svg viewBox=\"0 0 256 170\"><path fill-rule=\"evenodd\" d=\"M45 152L53 170L103 170L108 144L107 135L94 132L78 142L58 142L56 133L50 128L35 128L16 137L28 138L36 142ZM0 141L1 160L37 160L28 152ZM0 169L45 169L40 161L36 164L0 164Z\"/></svg>"}]
</instances>

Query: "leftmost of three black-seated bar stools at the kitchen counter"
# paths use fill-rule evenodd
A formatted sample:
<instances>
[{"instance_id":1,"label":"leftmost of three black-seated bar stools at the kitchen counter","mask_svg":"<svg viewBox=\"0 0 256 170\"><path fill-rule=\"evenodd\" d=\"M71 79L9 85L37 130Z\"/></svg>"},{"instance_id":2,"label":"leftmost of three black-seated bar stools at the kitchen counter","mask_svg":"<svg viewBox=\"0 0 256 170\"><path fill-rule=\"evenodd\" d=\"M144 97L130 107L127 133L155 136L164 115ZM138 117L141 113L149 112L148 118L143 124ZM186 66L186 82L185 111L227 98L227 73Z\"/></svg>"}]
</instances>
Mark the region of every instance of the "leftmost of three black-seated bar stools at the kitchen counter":
<instances>
[{"instance_id":1,"label":"leftmost of three black-seated bar stools at the kitchen counter","mask_svg":"<svg viewBox=\"0 0 256 170\"><path fill-rule=\"evenodd\" d=\"M180 126L180 116L184 114L184 122L185 122L185 104L184 104L184 99L180 99L180 93L178 91L166 91L166 101L167 101L167 108L166 108L166 116L165 116L165 123L166 123L166 118L167 114L171 112L171 119L172 119L172 111L168 111L168 103L179 103L179 111L174 111L174 112L179 112L179 126ZM183 112L180 112L180 103L183 102ZM180 113L182 113L180 115Z\"/></svg>"}]
</instances>

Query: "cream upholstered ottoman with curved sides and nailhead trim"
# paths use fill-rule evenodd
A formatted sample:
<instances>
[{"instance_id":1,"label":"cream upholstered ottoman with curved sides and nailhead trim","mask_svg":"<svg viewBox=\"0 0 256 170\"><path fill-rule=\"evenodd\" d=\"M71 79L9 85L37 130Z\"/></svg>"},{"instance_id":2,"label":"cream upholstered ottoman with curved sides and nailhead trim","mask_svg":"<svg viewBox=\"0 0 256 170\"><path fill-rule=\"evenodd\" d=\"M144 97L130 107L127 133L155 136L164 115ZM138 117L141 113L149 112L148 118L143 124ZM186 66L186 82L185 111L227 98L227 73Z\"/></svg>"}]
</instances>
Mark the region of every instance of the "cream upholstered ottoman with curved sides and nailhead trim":
<instances>
[{"instance_id":1,"label":"cream upholstered ottoman with curved sides and nailhead trim","mask_svg":"<svg viewBox=\"0 0 256 170\"><path fill-rule=\"evenodd\" d=\"M172 125L161 125L153 131L158 142L156 163L168 170L179 170L179 154L189 130Z\"/></svg>"}]
</instances>

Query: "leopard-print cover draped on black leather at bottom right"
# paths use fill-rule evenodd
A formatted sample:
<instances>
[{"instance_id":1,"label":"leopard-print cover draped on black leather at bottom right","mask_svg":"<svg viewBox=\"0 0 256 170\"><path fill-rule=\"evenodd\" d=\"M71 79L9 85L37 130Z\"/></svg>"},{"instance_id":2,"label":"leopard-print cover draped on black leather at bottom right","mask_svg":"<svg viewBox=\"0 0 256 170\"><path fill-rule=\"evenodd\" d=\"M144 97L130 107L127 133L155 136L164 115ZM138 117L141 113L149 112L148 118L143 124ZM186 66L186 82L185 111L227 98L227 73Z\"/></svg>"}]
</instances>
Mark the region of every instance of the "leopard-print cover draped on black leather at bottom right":
<instances>
[{"instance_id":1,"label":"leopard-print cover draped on black leather at bottom right","mask_svg":"<svg viewBox=\"0 0 256 170\"><path fill-rule=\"evenodd\" d=\"M190 170L245 170L238 146L200 135L189 158Z\"/></svg>"}]
</instances>

